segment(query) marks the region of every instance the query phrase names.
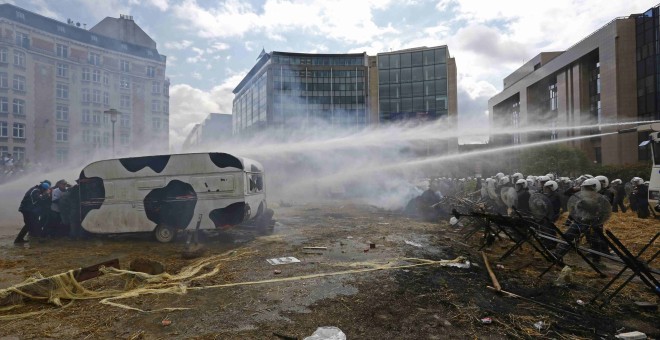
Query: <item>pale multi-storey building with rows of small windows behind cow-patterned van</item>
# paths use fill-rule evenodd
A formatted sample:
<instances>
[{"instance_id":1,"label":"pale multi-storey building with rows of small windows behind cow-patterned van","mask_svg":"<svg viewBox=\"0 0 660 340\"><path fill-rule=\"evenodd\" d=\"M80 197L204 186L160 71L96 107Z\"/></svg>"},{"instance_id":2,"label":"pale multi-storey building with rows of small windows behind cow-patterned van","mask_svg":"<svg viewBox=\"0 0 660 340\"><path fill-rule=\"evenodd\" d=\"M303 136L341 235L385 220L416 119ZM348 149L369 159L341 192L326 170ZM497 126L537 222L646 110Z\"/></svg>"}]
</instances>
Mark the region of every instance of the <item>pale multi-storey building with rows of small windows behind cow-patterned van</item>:
<instances>
[{"instance_id":1,"label":"pale multi-storey building with rows of small windows behind cow-patterned van","mask_svg":"<svg viewBox=\"0 0 660 340\"><path fill-rule=\"evenodd\" d=\"M110 155L113 129L117 156L136 146L166 152L165 68L130 16L85 29L0 5L0 153L32 163Z\"/></svg>"}]
</instances>

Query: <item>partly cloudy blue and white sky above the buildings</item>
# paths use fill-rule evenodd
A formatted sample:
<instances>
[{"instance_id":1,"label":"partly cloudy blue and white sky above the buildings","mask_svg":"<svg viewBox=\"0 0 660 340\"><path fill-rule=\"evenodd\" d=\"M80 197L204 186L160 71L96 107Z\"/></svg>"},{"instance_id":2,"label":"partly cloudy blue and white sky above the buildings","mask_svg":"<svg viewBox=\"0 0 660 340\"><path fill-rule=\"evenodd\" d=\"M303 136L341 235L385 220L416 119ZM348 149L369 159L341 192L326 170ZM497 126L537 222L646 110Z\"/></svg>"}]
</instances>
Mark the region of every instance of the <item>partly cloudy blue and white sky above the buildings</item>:
<instances>
[{"instance_id":1,"label":"partly cloudy blue and white sky above the buildings","mask_svg":"<svg viewBox=\"0 0 660 340\"><path fill-rule=\"evenodd\" d=\"M209 112L231 113L231 90L262 48L376 54L447 45L458 66L459 117L486 120L502 79L658 0L13 0L86 23L133 15L168 57L173 146Z\"/></svg>"}]
</instances>

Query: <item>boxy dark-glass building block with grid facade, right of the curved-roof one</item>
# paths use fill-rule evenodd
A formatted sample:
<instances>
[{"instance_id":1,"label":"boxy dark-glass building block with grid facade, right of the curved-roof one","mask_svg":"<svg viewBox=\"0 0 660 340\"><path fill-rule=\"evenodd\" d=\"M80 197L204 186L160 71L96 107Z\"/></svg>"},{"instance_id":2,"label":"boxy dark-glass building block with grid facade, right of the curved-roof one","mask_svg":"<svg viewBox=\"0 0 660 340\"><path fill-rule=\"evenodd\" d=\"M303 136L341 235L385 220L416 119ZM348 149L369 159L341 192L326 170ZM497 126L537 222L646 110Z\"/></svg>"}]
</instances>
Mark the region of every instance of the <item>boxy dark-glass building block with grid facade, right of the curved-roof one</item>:
<instances>
[{"instance_id":1,"label":"boxy dark-glass building block with grid facade, right of the curved-roof one","mask_svg":"<svg viewBox=\"0 0 660 340\"><path fill-rule=\"evenodd\" d=\"M447 116L449 58L447 46L378 54L380 121Z\"/></svg>"}]
</instances>

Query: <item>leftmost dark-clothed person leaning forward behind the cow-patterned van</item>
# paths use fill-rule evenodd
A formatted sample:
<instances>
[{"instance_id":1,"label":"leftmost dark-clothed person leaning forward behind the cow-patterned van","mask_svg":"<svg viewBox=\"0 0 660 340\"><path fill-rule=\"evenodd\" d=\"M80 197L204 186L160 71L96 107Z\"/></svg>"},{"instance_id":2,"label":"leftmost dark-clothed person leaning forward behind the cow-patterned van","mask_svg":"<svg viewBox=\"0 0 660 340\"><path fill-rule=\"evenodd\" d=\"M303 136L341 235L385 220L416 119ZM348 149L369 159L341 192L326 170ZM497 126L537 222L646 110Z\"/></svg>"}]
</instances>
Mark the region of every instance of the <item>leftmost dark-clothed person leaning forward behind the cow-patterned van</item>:
<instances>
[{"instance_id":1,"label":"leftmost dark-clothed person leaning forward behind the cow-patterned van","mask_svg":"<svg viewBox=\"0 0 660 340\"><path fill-rule=\"evenodd\" d=\"M40 218L43 215L44 202L50 202L50 184L47 182L41 182L25 193L18 208L23 214L25 225L16 236L14 243L25 243L25 235L28 233L30 238L41 238Z\"/></svg>"}]
</instances>

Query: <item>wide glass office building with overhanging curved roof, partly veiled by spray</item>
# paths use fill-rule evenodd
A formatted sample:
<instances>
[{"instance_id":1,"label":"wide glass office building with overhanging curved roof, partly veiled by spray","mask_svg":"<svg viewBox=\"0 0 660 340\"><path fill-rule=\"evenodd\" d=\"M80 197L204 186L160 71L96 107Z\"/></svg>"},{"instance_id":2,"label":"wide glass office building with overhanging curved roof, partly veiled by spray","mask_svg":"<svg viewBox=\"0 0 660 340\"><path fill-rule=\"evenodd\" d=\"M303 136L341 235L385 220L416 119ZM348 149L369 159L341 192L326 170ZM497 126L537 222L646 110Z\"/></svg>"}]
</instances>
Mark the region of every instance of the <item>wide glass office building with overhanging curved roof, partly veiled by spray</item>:
<instances>
[{"instance_id":1,"label":"wide glass office building with overhanging curved roof, partly veiled by spray","mask_svg":"<svg viewBox=\"0 0 660 340\"><path fill-rule=\"evenodd\" d=\"M360 129L367 123L367 55L262 52L234 89L233 132Z\"/></svg>"}]
</instances>

